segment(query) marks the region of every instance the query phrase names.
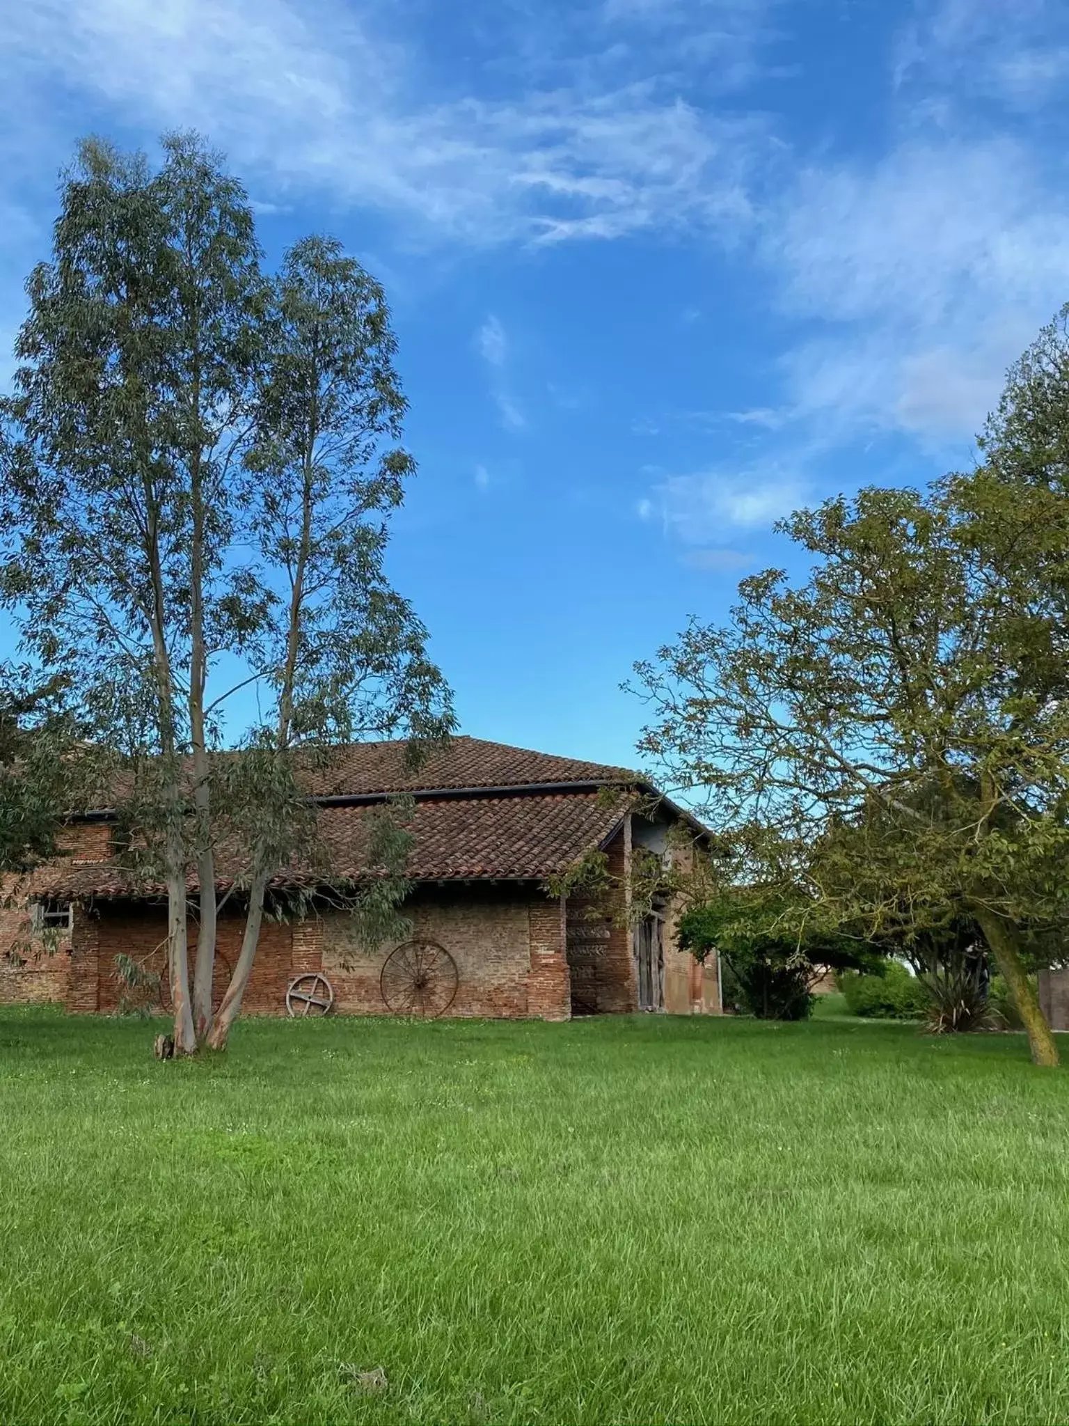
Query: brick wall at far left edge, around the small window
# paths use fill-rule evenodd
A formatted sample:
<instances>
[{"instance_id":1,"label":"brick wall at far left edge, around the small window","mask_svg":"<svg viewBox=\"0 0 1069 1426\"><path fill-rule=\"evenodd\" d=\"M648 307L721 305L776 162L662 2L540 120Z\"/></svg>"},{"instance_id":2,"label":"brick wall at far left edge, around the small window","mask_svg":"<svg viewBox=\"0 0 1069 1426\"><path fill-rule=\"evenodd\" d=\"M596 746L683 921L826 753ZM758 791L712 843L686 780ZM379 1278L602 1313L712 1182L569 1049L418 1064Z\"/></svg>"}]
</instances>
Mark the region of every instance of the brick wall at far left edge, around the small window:
<instances>
[{"instance_id":1,"label":"brick wall at far left edge, around the small window","mask_svg":"<svg viewBox=\"0 0 1069 1426\"><path fill-rule=\"evenodd\" d=\"M64 853L54 866L77 866L107 857L111 829L105 823L77 823L58 837ZM0 1004L64 1001L71 940L67 933L33 931L29 897L48 874L0 877Z\"/></svg>"}]
</instances>

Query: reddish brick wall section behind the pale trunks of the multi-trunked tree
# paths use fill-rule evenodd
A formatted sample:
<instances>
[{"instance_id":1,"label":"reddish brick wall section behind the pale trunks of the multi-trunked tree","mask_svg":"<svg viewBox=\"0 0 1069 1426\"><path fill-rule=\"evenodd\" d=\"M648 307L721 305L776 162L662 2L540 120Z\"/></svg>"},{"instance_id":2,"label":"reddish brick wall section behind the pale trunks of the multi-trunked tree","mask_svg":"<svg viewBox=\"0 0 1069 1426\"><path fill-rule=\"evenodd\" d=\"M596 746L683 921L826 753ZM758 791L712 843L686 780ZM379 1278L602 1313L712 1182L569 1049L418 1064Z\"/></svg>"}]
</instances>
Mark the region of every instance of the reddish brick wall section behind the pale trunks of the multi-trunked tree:
<instances>
[{"instance_id":1,"label":"reddish brick wall section behind the pale trunks of the multi-trunked tree","mask_svg":"<svg viewBox=\"0 0 1069 1426\"><path fill-rule=\"evenodd\" d=\"M100 1010L104 1014L114 1014L124 1004L133 1008L138 1004L153 1005L160 1010L170 1010L171 995L167 984L167 910L161 906L135 904L101 904L97 917L91 918L95 925L95 1004L68 1002L70 1010ZM76 918L76 954L71 963L78 963ZM218 940L215 950L215 975L212 992L215 1004L222 1000L224 991L237 964L241 950L241 935L244 918L239 915L222 915L220 918ZM191 937L194 935L191 927ZM160 994L153 995L147 988L133 990L118 974L115 955L128 955L148 975L160 977ZM195 945L190 944L190 965L192 974L192 960ZM291 927L279 921L265 921L259 933L257 958L252 964L248 990L241 1010L247 1015L284 1015L286 985L292 977L292 933Z\"/></svg>"}]
</instances>

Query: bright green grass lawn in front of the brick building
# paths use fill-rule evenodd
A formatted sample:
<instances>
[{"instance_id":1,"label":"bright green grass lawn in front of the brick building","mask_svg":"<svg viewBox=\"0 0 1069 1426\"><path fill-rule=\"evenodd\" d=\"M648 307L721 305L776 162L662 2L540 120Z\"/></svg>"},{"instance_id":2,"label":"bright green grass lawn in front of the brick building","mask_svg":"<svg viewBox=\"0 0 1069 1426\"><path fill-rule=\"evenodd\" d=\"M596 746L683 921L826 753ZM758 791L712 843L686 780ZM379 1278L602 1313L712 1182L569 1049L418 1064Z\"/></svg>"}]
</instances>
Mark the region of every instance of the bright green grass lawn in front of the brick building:
<instances>
[{"instance_id":1,"label":"bright green grass lawn in front of the brick building","mask_svg":"<svg viewBox=\"0 0 1069 1426\"><path fill-rule=\"evenodd\" d=\"M1 1011L0 1422L1069 1420L1069 1072L835 1008Z\"/></svg>"}]
</instances>

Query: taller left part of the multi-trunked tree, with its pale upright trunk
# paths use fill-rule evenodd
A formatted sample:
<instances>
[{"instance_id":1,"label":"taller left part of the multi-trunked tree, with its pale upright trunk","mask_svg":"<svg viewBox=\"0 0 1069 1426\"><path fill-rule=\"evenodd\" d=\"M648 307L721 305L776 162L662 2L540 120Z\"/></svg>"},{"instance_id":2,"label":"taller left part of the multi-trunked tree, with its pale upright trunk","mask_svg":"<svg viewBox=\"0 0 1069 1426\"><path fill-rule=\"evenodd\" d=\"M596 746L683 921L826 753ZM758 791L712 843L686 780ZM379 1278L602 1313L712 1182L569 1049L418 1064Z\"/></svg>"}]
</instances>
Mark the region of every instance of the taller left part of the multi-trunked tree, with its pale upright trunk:
<instances>
[{"instance_id":1,"label":"taller left part of the multi-trunked tree, with its pale upright trunk","mask_svg":"<svg viewBox=\"0 0 1069 1426\"><path fill-rule=\"evenodd\" d=\"M248 424L262 291L248 202L200 140L165 138L157 173L86 141L63 180L53 260L27 284L6 409L4 593L24 645L83 689L120 672L153 706L141 730L155 754L182 1051L197 1038L182 759L192 756L204 951L215 930L205 667L208 639L227 637L208 632L205 606L225 579L227 476Z\"/></svg>"}]
</instances>

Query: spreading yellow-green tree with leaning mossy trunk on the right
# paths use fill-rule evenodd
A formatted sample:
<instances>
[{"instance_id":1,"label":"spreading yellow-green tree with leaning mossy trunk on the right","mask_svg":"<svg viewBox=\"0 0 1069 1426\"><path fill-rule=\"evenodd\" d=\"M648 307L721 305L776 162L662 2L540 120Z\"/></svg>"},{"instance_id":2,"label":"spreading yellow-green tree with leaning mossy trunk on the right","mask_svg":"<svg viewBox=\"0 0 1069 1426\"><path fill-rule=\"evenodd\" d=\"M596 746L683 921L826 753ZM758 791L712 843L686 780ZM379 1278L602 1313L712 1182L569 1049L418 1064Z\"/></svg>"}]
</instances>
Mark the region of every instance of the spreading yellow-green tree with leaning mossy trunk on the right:
<instances>
[{"instance_id":1,"label":"spreading yellow-green tree with leaning mossy trunk on the right","mask_svg":"<svg viewBox=\"0 0 1069 1426\"><path fill-rule=\"evenodd\" d=\"M1066 915L1062 630L1026 550L985 545L1012 489L985 486L982 520L958 493L869 489L794 515L781 529L811 576L744 580L727 626L694 622L640 665L641 746L707 793L747 878L790 866L872 937L948 907L975 920L1033 1060L1056 1064L1023 937Z\"/></svg>"}]
</instances>

